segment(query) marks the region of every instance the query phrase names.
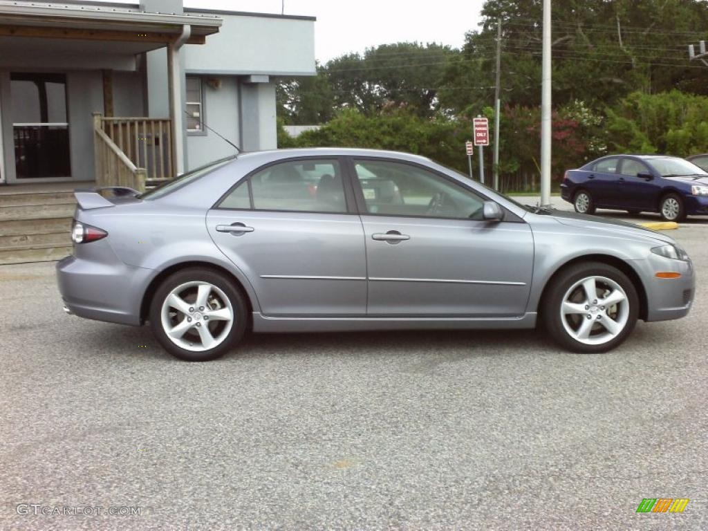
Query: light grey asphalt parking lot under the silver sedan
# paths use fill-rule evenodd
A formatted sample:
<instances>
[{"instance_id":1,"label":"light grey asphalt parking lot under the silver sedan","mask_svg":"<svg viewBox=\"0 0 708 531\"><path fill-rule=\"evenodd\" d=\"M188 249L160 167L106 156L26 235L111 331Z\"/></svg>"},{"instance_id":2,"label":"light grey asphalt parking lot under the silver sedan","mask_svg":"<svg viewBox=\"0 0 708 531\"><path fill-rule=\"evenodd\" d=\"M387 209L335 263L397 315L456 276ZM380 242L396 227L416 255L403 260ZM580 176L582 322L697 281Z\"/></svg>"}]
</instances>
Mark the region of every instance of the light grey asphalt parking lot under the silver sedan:
<instances>
[{"instance_id":1,"label":"light grey asphalt parking lot under the silver sedan","mask_svg":"<svg viewBox=\"0 0 708 531\"><path fill-rule=\"evenodd\" d=\"M708 222L672 236L708 278ZM391 332L250 336L189 364L66 316L53 263L0 267L0 298L3 530L708 529L701 282L690 316L605 355Z\"/></svg>"}]
</instances>

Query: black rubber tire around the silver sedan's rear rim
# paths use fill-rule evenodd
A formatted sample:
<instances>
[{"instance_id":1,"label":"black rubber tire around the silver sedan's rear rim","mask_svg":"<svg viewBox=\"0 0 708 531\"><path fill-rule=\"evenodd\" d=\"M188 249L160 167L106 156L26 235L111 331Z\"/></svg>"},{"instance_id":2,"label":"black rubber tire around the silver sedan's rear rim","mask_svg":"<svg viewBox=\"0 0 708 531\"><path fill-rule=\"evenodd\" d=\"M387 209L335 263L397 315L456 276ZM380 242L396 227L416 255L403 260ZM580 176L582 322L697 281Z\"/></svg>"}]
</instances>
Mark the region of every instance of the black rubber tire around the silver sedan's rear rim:
<instances>
[{"instance_id":1,"label":"black rubber tire around the silver sedan's rear rim","mask_svg":"<svg viewBox=\"0 0 708 531\"><path fill-rule=\"evenodd\" d=\"M210 283L212 286L217 287L218 290L222 292L222 294L216 294L215 292L212 292L212 296L217 297L216 302L220 302L223 295L227 297L228 302L231 304L233 314L231 329L227 332L225 328L222 328L224 338L214 348L199 351L193 351L188 350L188 348L182 348L176 343L173 343L173 341L169 338L166 331L164 330L164 326L162 324L163 303L165 302L166 298L169 296L172 290L190 282ZM188 288L188 290L189 289L190 288ZM196 290L197 288L193 289ZM189 291L186 292L189 293ZM187 297L191 296L192 295L189 294L187 295ZM224 304L221 304L219 307L224 307ZM157 341L159 341L161 346L163 346L164 349L167 350L167 352L169 352L176 358L192 362L214 360L227 353L230 349L234 348L234 346L236 346L236 344L241 341L241 338L243 338L244 332L246 331L247 308L248 306L246 304L246 300L244 299L244 295L241 293L241 290L239 290L239 288L234 285L234 282L232 282L232 280L224 278L224 275L219 274L215 270L211 270L208 268L183 269L170 275L157 288L154 297L152 297L152 301L150 302L150 328L152 329L152 333L154 333L155 338L157 339ZM195 310L198 311L198 309ZM178 314L178 312L174 313ZM178 319L178 317L176 317L176 319ZM183 319L186 319L186 314ZM195 321L197 319L198 318L195 317ZM203 319L203 317L201 317L201 314L199 319ZM226 324L220 324L219 321L217 321L216 319L212 319L210 323L202 321L202 324L206 324L207 326L211 327L212 330L215 329L217 331L219 330L219 326L227 326ZM200 324L200 326L202 326L202 324ZM186 337L187 341L190 341L190 338L195 338L195 343L201 343L196 331L197 329L195 328L189 329L183 337Z\"/></svg>"}]
</instances>

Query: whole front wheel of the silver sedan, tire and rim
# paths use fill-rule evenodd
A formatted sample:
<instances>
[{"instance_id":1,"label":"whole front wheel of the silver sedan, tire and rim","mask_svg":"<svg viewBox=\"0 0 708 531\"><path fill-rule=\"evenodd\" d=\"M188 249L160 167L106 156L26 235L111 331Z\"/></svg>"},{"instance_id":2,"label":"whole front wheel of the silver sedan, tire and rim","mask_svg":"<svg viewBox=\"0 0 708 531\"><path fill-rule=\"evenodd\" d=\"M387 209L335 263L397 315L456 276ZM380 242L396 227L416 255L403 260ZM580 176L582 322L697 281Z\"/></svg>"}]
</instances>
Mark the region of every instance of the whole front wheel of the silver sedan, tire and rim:
<instances>
[{"instance_id":1,"label":"whole front wheel of the silver sedan, tire and rim","mask_svg":"<svg viewBox=\"0 0 708 531\"><path fill-rule=\"evenodd\" d=\"M579 263L556 275L544 298L544 324L561 346L579 353L612 350L632 333L639 297L627 275L604 263Z\"/></svg>"}]
</instances>

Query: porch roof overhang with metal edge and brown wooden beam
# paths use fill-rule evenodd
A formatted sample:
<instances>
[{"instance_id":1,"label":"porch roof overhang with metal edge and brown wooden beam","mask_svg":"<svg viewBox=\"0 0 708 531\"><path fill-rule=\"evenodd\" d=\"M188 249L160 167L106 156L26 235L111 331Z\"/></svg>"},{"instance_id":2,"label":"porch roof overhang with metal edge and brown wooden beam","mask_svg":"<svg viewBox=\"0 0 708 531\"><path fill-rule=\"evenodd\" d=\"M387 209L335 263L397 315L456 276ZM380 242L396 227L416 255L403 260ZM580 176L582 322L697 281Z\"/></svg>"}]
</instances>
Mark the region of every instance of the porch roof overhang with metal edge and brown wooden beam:
<instances>
[{"instance_id":1,"label":"porch roof overhang with metal edge and brown wooden beam","mask_svg":"<svg viewBox=\"0 0 708 531\"><path fill-rule=\"evenodd\" d=\"M144 50L173 42L190 26L188 44L218 33L214 14L149 13L135 8L0 0L0 36L142 42ZM156 46L158 45L158 46Z\"/></svg>"}]
</instances>

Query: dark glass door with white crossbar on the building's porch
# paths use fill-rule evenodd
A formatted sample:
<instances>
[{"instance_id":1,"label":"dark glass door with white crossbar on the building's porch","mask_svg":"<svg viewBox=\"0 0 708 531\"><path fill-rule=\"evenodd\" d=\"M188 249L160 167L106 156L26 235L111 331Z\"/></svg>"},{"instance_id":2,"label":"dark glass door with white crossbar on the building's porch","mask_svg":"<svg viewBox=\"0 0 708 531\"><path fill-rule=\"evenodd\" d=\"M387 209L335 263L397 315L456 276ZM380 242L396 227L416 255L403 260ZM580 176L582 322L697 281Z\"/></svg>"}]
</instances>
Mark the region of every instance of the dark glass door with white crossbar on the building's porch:
<instances>
[{"instance_id":1,"label":"dark glass door with white crossbar on the building's porch","mask_svg":"<svg viewBox=\"0 0 708 531\"><path fill-rule=\"evenodd\" d=\"M67 79L64 74L10 74L16 179L67 178Z\"/></svg>"}]
</instances>

